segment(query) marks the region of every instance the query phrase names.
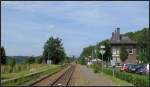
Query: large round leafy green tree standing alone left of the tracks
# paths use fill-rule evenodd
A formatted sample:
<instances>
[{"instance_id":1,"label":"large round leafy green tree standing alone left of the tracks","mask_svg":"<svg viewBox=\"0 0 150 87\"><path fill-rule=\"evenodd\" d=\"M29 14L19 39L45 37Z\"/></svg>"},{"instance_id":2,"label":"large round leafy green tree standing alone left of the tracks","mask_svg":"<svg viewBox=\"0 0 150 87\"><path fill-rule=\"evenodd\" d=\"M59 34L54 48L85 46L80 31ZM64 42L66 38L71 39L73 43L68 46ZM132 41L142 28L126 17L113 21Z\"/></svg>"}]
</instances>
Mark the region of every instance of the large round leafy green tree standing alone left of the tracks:
<instances>
[{"instance_id":1,"label":"large round leafy green tree standing alone left of the tracks","mask_svg":"<svg viewBox=\"0 0 150 87\"><path fill-rule=\"evenodd\" d=\"M52 60L53 64L62 62L65 57L65 51L61 43L62 39L50 37L44 45L43 58L45 63L48 59Z\"/></svg>"}]
</instances>

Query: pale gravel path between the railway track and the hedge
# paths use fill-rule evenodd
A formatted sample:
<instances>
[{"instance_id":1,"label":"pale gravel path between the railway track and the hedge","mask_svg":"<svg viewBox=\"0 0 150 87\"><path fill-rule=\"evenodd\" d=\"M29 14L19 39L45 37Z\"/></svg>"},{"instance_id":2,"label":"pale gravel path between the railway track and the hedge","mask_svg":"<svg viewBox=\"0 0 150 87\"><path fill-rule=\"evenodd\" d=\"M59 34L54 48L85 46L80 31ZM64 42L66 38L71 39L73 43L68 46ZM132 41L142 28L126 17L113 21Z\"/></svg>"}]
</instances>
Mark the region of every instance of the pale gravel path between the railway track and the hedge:
<instances>
[{"instance_id":1,"label":"pale gravel path between the railway track and the hedge","mask_svg":"<svg viewBox=\"0 0 150 87\"><path fill-rule=\"evenodd\" d=\"M77 65L72 78L73 86L112 86L112 81L95 74L86 66Z\"/></svg>"}]
</instances>

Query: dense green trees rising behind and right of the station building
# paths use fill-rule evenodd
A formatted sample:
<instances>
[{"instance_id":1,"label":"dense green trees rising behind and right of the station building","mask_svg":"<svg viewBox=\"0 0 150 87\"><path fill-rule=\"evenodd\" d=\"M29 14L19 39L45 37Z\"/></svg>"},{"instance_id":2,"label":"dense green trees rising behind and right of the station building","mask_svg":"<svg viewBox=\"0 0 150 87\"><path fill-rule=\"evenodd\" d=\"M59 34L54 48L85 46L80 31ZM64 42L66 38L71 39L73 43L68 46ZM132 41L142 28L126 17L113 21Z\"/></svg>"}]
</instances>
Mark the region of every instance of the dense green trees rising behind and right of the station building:
<instances>
[{"instance_id":1,"label":"dense green trees rising behind and right of the station building","mask_svg":"<svg viewBox=\"0 0 150 87\"><path fill-rule=\"evenodd\" d=\"M137 59L142 62L149 60L149 28L143 28L136 32L128 32L125 33L125 35L129 36L132 40L137 41L137 54L139 55Z\"/></svg>"}]
</instances>

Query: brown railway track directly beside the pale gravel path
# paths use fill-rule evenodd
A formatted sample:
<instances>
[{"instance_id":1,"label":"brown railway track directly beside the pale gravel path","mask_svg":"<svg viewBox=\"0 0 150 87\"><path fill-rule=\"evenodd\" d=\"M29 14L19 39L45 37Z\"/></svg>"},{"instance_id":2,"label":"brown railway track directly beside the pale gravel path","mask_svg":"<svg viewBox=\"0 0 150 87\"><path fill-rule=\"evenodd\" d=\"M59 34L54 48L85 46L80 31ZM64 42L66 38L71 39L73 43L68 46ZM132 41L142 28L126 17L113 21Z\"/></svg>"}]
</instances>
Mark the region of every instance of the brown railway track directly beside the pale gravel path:
<instances>
[{"instance_id":1,"label":"brown railway track directly beside the pale gravel path","mask_svg":"<svg viewBox=\"0 0 150 87\"><path fill-rule=\"evenodd\" d=\"M57 78L50 86L68 86L69 82L73 75L75 69L75 65L71 65L71 67L66 70L59 78Z\"/></svg>"}]
</instances>

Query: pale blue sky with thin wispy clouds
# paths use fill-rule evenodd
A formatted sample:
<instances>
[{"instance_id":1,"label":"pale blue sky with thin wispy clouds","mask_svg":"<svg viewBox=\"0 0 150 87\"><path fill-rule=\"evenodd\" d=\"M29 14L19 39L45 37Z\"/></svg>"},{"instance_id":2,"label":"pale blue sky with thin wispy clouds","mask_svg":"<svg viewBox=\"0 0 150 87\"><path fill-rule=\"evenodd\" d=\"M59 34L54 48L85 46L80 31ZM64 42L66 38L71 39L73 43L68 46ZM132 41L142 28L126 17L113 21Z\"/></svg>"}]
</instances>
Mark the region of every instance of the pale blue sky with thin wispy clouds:
<instances>
[{"instance_id":1,"label":"pale blue sky with thin wispy clouds","mask_svg":"<svg viewBox=\"0 0 150 87\"><path fill-rule=\"evenodd\" d=\"M1 45L8 56L42 55L50 36L68 56L121 33L149 27L148 1L2 1Z\"/></svg>"}]
</instances>

